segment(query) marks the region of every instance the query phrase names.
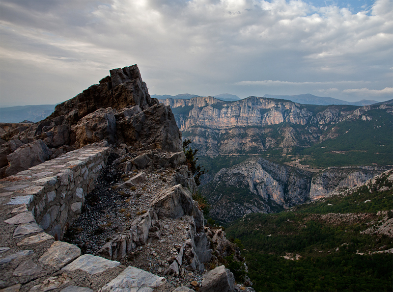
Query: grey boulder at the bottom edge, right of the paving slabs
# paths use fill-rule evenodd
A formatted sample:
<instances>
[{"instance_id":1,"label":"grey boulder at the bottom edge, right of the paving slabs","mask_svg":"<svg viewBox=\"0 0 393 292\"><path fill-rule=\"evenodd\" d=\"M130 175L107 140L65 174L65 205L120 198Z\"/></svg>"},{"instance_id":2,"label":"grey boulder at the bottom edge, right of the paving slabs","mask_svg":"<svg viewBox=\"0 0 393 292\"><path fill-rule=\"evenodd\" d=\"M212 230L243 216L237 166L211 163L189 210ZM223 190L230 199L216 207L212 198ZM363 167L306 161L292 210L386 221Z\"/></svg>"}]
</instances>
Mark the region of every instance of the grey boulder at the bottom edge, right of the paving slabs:
<instances>
[{"instance_id":1,"label":"grey boulder at the bottom edge, right of the paving slabs","mask_svg":"<svg viewBox=\"0 0 393 292\"><path fill-rule=\"evenodd\" d=\"M200 292L231 292L234 290L235 277L232 272L220 265L208 272L202 281Z\"/></svg>"}]
</instances>

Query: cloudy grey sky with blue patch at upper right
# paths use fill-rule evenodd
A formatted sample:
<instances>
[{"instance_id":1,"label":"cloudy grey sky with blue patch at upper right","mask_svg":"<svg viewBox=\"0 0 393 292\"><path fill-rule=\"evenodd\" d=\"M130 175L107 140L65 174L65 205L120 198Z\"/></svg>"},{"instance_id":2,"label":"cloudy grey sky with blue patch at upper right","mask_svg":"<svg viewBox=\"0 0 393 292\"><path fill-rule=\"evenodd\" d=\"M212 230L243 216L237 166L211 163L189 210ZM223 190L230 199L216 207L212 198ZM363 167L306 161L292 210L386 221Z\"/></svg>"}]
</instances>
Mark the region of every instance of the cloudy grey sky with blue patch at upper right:
<instances>
[{"instance_id":1,"label":"cloudy grey sky with blue patch at upper right","mask_svg":"<svg viewBox=\"0 0 393 292\"><path fill-rule=\"evenodd\" d=\"M393 98L393 0L1 0L0 106L138 64L150 94Z\"/></svg>"}]
</instances>

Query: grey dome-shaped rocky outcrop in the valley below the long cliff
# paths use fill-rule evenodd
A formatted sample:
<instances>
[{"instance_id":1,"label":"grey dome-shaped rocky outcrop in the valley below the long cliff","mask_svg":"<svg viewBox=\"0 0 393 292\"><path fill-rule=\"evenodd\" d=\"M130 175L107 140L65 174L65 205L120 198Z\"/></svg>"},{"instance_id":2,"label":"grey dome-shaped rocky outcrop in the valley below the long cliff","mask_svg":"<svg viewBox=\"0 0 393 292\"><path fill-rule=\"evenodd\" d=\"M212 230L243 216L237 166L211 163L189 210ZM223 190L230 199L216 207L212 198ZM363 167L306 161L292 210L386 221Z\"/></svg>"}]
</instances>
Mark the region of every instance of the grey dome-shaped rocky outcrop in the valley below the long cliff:
<instances>
[{"instance_id":1,"label":"grey dome-shaped rocky outcrop in the valley below the long cliff","mask_svg":"<svg viewBox=\"0 0 393 292\"><path fill-rule=\"evenodd\" d=\"M249 159L221 169L202 192L210 214L223 222L250 212L277 212L309 198L311 173L266 159Z\"/></svg>"}]
</instances>

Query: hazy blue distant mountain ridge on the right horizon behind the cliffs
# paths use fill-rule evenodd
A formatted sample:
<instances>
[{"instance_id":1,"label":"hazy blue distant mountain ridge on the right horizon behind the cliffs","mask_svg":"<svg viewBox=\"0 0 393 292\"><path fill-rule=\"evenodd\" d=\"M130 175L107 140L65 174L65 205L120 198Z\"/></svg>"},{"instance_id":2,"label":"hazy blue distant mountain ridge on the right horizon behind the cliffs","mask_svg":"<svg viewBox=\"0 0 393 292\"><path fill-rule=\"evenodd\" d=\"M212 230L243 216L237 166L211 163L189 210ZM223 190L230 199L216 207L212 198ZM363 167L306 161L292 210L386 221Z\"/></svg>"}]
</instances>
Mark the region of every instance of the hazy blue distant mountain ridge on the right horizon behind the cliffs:
<instances>
[{"instance_id":1,"label":"hazy blue distant mountain ridge on the right horizon behind the cliffs","mask_svg":"<svg viewBox=\"0 0 393 292\"><path fill-rule=\"evenodd\" d=\"M340 99L328 97L328 96L315 96L312 94L298 94L298 95L273 95L265 94L263 97L286 99L294 103L303 105L319 105L319 106L330 106L330 105L352 105L352 106L370 106L378 103L374 100L361 100L359 102L347 102Z\"/></svg>"}]
</instances>

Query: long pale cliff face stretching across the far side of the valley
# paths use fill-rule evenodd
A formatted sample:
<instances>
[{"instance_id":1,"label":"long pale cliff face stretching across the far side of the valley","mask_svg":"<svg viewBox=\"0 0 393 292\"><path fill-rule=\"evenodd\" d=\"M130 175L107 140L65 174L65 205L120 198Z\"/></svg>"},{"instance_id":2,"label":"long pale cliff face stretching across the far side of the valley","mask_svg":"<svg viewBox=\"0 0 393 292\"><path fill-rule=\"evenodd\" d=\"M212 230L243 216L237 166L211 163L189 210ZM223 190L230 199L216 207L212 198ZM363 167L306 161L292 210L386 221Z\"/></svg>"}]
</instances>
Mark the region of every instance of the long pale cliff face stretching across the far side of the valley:
<instances>
[{"instance_id":1,"label":"long pale cliff face stretching across the far side of the valley","mask_svg":"<svg viewBox=\"0 0 393 292\"><path fill-rule=\"evenodd\" d=\"M258 153L311 145L336 137L333 129L343 121L371 121L367 112L392 113L392 105L310 106L261 97L223 102L213 97L166 99L183 135L190 137L200 155Z\"/></svg>"}]
</instances>

